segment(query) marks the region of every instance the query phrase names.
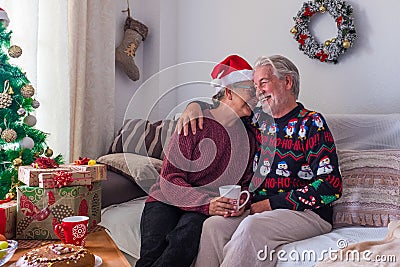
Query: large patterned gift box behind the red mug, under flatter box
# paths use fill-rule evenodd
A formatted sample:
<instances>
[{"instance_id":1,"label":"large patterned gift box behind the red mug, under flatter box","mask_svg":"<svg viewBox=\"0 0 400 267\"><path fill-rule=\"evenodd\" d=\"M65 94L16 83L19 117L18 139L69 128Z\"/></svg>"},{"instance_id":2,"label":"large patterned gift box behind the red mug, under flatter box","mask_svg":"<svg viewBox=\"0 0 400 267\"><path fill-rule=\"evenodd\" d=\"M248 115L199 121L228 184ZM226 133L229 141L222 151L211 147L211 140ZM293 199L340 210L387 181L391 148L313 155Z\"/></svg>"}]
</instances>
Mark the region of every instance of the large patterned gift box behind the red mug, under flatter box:
<instances>
[{"instance_id":1,"label":"large patterned gift box behind the red mug, under flatter box","mask_svg":"<svg viewBox=\"0 0 400 267\"><path fill-rule=\"evenodd\" d=\"M45 189L17 188L17 239L58 239L53 226L68 216L89 217L89 229L101 219L101 183Z\"/></svg>"}]
</instances>

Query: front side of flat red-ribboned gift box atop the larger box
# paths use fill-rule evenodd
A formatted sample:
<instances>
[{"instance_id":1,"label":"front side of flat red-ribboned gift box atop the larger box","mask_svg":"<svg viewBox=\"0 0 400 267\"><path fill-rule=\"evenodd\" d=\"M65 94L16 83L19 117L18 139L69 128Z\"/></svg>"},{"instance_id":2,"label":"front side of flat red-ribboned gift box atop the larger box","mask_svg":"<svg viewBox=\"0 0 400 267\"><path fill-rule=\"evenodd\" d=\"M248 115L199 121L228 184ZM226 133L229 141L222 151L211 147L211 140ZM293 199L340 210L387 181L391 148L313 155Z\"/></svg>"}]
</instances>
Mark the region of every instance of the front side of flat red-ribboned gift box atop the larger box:
<instances>
[{"instance_id":1,"label":"front side of flat red-ribboned gift box atop the larger box","mask_svg":"<svg viewBox=\"0 0 400 267\"><path fill-rule=\"evenodd\" d=\"M91 183L92 177L88 171L58 171L39 174L39 187L41 188L90 185Z\"/></svg>"}]
</instances>

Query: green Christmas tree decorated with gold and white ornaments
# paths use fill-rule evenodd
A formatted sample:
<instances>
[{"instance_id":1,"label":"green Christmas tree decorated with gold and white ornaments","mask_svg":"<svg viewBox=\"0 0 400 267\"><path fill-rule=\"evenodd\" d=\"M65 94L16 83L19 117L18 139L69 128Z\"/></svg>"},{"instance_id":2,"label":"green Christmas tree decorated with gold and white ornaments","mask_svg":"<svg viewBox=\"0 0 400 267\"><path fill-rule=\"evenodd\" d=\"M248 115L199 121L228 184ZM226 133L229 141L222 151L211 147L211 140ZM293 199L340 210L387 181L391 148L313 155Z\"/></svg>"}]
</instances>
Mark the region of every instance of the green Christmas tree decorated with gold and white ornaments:
<instances>
[{"instance_id":1,"label":"green Christmas tree decorated with gold and white ornaments","mask_svg":"<svg viewBox=\"0 0 400 267\"><path fill-rule=\"evenodd\" d=\"M21 184L18 166L30 165L43 154L53 155L47 134L33 128L36 117L31 113L40 105L34 99L35 89L21 68L9 62L10 57L20 57L22 49L11 45L8 23L7 13L0 8L0 200L15 196L15 187ZM62 157L52 160L59 164Z\"/></svg>"}]
</instances>

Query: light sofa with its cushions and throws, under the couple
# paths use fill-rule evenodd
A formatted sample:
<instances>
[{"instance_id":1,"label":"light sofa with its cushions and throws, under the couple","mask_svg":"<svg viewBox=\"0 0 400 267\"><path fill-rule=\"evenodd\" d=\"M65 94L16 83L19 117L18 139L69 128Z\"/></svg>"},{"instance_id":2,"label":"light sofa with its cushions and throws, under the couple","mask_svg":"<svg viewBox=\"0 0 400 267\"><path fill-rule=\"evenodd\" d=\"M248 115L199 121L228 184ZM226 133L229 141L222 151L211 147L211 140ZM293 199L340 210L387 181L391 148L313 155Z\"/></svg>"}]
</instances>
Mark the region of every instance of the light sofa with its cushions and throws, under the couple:
<instances>
[{"instance_id":1,"label":"light sofa with its cushions and throws, under the couple","mask_svg":"<svg viewBox=\"0 0 400 267\"><path fill-rule=\"evenodd\" d=\"M388 223L400 219L400 114L325 118L336 141L343 176L343 197L334 204L334 229L282 246L287 254L278 266L315 266L326 258L324 250L383 239ZM137 184L148 188L154 182L163 157L159 147L168 141L174 126L173 121L127 121L110 153L99 158L110 172L103 184L101 225L119 248L134 258L140 251L139 225L145 200L145 192ZM315 255L303 255L304 251Z\"/></svg>"}]
</instances>

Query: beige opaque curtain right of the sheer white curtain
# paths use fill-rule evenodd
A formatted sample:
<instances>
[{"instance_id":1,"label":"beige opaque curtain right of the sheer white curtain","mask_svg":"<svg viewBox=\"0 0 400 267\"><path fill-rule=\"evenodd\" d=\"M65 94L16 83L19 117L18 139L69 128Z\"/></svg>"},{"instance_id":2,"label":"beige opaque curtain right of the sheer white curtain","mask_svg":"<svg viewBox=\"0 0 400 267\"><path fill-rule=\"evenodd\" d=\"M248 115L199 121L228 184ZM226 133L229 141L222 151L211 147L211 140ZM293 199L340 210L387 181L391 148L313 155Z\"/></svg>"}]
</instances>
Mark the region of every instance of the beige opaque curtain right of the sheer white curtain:
<instances>
[{"instance_id":1,"label":"beige opaque curtain right of the sheer white curtain","mask_svg":"<svg viewBox=\"0 0 400 267\"><path fill-rule=\"evenodd\" d=\"M112 0L68 1L71 158L96 158L114 135L115 19Z\"/></svg>"}]
</instances>

